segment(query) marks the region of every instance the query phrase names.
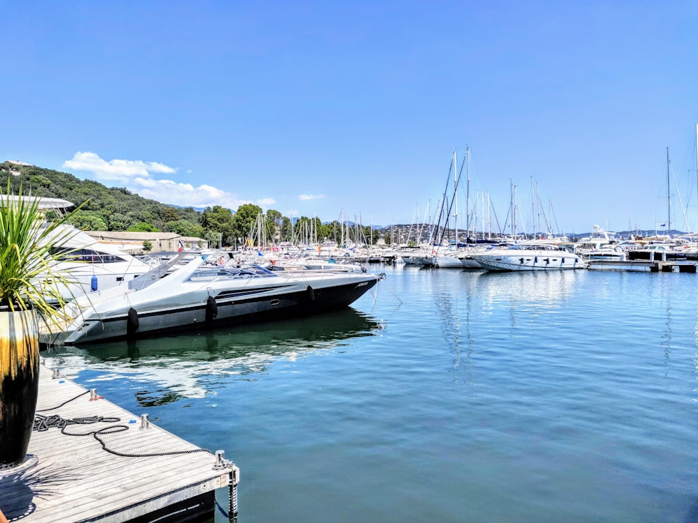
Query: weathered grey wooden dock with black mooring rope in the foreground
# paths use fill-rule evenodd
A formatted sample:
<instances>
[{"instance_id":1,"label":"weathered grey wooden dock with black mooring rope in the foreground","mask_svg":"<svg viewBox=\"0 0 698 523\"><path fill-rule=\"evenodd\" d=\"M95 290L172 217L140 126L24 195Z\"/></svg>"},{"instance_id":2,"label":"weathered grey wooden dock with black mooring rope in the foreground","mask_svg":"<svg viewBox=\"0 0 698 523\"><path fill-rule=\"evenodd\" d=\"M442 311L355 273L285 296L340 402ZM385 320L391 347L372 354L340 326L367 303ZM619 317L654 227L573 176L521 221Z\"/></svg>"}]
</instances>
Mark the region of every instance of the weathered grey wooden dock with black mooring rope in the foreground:
<instances>
[{"instance_id":1,"label":"weathered grey wooden dock with black mooring rope in the foreground","mask_svg":"<svg viewBox=\"0 0 698 523\"><path fill-rule=\"evenodd\" d=\"M34 458L9 473L0 471L5 517L26 523L211 520L215 490L237 483L237 467L92 395L41 365L37 415L107 419L65 429L88 434L82 436L62 434L60 427L34 430L29 443ZM122 455L107 452L92 432ZM226 510L227 498L221 503Z\"/></svg>"}]
</instances>

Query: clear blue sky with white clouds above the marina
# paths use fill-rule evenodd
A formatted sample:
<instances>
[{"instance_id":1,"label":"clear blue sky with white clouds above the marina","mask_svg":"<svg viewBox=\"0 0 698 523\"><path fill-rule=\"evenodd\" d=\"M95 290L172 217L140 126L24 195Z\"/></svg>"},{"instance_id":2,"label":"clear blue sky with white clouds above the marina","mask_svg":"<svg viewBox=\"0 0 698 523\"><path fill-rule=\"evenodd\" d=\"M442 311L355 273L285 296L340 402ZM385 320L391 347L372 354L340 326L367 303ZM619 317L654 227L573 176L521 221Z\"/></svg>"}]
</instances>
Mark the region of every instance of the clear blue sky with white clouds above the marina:
<instances>
[{"instance_id":1,"label":"clear blue sky with white clouds above the marina","mask_svg":"<svg viewBox=\"0 0 698 523\"><path fill-rule=\"evenodd\" d=\"M469 146L471 211L489 196L503 227L514 184L529 232L537 192L555 232L579 233L666 222L669 146L672 225L698 229L695 0L0 0L0 13L0 160L181 206L389 225L433 212Z\"/></svg>"}]
</instances>

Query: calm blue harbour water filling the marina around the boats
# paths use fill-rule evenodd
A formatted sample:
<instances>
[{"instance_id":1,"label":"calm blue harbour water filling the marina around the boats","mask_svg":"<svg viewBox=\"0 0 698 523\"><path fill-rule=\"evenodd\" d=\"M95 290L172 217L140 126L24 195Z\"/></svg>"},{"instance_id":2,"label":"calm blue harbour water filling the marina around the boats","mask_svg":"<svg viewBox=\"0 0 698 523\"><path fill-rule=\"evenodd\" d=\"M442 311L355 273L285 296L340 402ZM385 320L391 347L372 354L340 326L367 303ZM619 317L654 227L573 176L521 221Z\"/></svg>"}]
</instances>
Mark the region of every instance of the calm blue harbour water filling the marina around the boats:
<instances>
[{"instance_id":1,"label":"calm blue harbour water filling the marina around the boats","mask_svg":"<svg viewBox=\"0 0 698 523\"><path fill-rule=\"evenodd\" d=\"M241 523L698 522L698 275L380 271L341 313L49 364L225 450Z\"/></svg>"}]
</instances>

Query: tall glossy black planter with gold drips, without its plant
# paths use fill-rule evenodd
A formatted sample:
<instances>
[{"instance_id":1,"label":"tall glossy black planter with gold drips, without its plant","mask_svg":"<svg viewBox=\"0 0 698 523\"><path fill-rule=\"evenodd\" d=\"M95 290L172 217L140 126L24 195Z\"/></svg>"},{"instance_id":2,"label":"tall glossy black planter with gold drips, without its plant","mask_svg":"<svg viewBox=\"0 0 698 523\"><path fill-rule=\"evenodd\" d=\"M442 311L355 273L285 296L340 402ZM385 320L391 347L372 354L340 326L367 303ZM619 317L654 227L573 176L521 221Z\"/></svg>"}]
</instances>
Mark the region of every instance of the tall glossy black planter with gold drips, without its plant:
<instances>
[{"instance_id":1,"label":"tall glossy black planter with gold drips, without its plant","mask_svg":"<svg viewBox=\"0 0 698 523\"><path fill-rule=\"evenodd\" d=\"M0 311L0 470L24 462L38 385L36 313Z\"/></svg>"}]
</instances>

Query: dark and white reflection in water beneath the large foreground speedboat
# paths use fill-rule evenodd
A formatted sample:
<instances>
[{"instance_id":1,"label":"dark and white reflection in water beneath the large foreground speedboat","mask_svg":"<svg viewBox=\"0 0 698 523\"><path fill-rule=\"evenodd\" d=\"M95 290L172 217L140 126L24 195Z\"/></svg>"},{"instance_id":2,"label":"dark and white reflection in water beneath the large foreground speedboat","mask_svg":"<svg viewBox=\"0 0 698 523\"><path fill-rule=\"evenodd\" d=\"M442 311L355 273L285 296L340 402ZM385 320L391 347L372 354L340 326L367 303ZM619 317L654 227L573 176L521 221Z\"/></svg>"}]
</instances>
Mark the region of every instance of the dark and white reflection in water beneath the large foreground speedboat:
<instances>
[{"instance_id":1,"label":"dark and white reflection in water beneath the large foreground speedboat","mask_svg":"<svg viewBox=\"0 0 698 523\"><path fill-rule=\"evenodd\" d=\"M375 335L381 325L349 308L314 317L235 326L200 334L172 333L132 342L55 347L48 367L70 377L89 370L89 381L135 379L148 384L135 393L142 406L204 397L229 379L256 379L279 358L295 359L336 349L353 338Z\"/></svg>"}]
</instances>

